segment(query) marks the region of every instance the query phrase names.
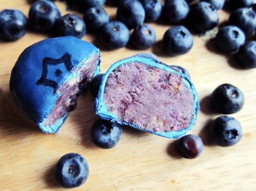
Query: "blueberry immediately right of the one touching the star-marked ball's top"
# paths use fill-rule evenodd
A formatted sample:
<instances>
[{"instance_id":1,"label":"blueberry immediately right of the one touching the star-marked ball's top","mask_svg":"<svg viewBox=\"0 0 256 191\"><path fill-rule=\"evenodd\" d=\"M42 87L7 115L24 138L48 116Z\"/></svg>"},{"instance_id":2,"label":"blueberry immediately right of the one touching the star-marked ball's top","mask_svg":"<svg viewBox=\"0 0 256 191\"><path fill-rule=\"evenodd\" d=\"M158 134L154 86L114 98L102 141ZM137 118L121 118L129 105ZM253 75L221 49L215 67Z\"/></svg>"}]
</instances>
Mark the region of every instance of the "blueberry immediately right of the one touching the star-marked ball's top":
<instances>
[{"instance_id":1,"label":"blueberry immediately right of the one touching the star-marked ball's top","mask_svg":"<svg viewBox=\"0 0 256 191\"><path fill-rule=\"evenodd\" d=\"M109 23L109 15L103 8L90 8L84 14L84 22L89 30L99 30Z\"/></svg>"}]
</instances>

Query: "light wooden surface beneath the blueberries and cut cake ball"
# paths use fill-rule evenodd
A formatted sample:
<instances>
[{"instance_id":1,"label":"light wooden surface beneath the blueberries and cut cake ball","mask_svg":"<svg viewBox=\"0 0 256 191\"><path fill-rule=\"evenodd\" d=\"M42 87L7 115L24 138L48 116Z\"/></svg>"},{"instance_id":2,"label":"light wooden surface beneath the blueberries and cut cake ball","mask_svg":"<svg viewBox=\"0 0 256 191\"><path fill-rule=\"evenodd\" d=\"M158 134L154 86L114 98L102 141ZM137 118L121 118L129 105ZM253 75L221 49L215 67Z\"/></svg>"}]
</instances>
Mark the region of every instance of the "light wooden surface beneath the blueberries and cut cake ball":
<instances>
[{"instance_id":1,"label":"light wooden surface beneath the blueberries and cut cake ball","mask_svg":"<svg viewBox=\"0 0 256 191\"><path fill-rule=\"evenodd\" d=\"M62 13L65 4L57 2ZM1 0L0 10L16 8L28 15L26 0ZM116 8L105 6L111 18ZM71 11L78 13L76 11ZM78 13L82 16L80 13ZM228 13L219 11L220 23ZM47 34L28 32L15 42L0 41L0 189L40 190L62 189L54 177L56 162L69 152L82 154L90 166L86 183L77 190L256 190L256 69L242 70L231 56L221 54L211 37L194 35L194 46L188 54L170 57L161 49L161 39L171 24L151 24L157 32L156 45L147 52L157 54L169 65L188 69L200 97L198 121L189 133L199 135L205 144L199 158L180 158L173 140L124 128L118 145L110 150L96 147L90 140L90 128L98 118L93 112L89 91L79 97L78 108L71 112L56 135L46 135L26 121L12 101L9 80L12 67L24 48ZM126 47L107 51L97 36L86 34L84 40L94 43L102 53L102 72L119 59L138 51ZM208 95L222 83L239 87L245 95L241 111L231 116L242 124L241 141L232 147L211 143L207 129L219 116L211 110Z\"/></svg>"}]
</instances>

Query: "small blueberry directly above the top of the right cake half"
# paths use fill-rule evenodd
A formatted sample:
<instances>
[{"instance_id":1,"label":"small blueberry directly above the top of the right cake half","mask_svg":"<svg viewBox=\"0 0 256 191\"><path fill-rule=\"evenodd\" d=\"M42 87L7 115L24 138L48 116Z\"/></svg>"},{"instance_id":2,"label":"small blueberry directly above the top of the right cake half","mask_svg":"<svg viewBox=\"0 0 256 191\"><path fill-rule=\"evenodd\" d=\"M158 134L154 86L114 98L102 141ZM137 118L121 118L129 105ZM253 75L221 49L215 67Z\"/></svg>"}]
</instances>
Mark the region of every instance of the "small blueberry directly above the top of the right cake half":
<instances>
[{"instance_id":1,"label":"small blueberry directly above the top of the right cake half","mask_svg":"<svg viewBox=\"0 0 256 191\"><path fill-rule=\"evenodd\" d=\"M156 42L156 32L153 27L143 24L132 32L131 44L138 49L147 49Z\"/></svg>"}]
</instances>

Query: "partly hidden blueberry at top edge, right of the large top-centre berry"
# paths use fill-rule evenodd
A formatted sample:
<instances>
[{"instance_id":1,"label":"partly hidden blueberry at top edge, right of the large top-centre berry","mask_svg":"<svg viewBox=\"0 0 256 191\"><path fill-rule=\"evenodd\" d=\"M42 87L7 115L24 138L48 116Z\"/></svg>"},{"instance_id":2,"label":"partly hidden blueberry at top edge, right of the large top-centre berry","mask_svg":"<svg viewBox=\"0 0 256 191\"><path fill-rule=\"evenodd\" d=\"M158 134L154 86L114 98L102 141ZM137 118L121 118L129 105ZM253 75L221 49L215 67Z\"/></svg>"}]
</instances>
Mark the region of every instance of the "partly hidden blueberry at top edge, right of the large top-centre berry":
<instances>
[{"instance_id":1,"label":"partly hidden blueberry at top edge, right of the large top-centre berry","mask_svg":"<svg viewBox=\"0 0 256 191\"><path fill-rule=\"evenodd\" d=\"M155 22L161 16L163 5L160 0L144 0L142 1L145 10L145 20L147 22Z\"/></svg>"}]
</instances>

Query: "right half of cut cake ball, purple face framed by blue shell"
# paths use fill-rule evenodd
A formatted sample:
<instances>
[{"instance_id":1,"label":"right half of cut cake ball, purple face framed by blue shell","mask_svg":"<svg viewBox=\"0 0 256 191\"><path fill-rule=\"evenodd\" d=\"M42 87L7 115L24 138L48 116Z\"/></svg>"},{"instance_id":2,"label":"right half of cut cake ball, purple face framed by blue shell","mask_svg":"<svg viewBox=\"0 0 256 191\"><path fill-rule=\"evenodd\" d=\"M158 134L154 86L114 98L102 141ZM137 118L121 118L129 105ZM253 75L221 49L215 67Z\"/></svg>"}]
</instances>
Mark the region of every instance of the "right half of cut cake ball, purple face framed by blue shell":
<instances>
[{"instance_id":1,"label":"right half of cut cake ball, purple face framed by blue shell","mask_svg":"<svg viewBox=\"0 0 256 191\"><path fill-rule=\"evenodd\" d=\"M181 70L136 55L107 70L95 111L121 125L177 138L194 126L199 102L193 83Z\"/></svg>"}]
</instances>

